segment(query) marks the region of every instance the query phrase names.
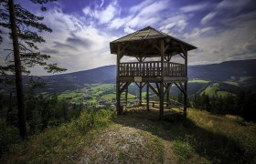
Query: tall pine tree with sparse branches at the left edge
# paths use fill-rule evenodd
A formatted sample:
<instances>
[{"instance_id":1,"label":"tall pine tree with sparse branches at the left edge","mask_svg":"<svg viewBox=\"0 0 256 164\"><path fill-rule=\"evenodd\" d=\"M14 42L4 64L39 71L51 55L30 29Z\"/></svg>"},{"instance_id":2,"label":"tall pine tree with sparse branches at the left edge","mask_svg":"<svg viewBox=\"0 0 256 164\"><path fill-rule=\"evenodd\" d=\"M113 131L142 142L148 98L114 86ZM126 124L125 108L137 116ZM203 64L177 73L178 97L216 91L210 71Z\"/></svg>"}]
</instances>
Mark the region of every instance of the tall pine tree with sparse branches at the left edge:
<instances>
[{"instance_id":1,"label":"tall pine tree with sparse branches at the left edge","mask_svg":"<svg viewBox=\"0 0 256 164\"><path fill-rule=\"evenodd\" d=\"M54 0L30 1L41 5L41 10L46 11L44 4ZM38 50L37 44L45 42L38 33L52 32L48 26L41 23L44 17L34 15L21 5L16 5L14 0L0 0L0 15L0 26L10 31L10 39L13 43L13 49L9 49L10 54L6 57L5 66L0 67L0 74L2 77L10 73L15 75L20 136L27 138L22 73L29 75L29 68L37 65L44 67L48 73L61 72L66 69L58 67L57 64L48 63L50 56L41 54ZM0 35L0 42L2 42L2 30Z\"/></svg>"}]
</instances>

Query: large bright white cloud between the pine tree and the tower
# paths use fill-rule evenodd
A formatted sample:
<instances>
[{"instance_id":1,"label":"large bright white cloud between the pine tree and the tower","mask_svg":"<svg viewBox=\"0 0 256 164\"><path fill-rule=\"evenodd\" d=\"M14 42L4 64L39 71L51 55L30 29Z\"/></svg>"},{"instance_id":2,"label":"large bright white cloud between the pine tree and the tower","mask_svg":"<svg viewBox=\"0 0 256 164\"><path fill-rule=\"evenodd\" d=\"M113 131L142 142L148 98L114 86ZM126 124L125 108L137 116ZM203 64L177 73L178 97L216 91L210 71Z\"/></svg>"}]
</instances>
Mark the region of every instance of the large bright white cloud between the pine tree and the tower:
<instances>
[{"instance_id":1,"label":"large bright white cloud between the pine tree and the tower","mask_svg":"<svg viewBox=\"0 0 256 164\"><path fill-rule=\"evenodd\" d=\"M52 33L44 34L46 43L40 46L48 51L51 61L68 72L115 64L115 56L110 55L109 36L94 26L85 26L74 15L64 14L60 9L49 10L45 23L53 28ZM46 75L38 68L34 75Z\"/></svg>"}]
</instances>

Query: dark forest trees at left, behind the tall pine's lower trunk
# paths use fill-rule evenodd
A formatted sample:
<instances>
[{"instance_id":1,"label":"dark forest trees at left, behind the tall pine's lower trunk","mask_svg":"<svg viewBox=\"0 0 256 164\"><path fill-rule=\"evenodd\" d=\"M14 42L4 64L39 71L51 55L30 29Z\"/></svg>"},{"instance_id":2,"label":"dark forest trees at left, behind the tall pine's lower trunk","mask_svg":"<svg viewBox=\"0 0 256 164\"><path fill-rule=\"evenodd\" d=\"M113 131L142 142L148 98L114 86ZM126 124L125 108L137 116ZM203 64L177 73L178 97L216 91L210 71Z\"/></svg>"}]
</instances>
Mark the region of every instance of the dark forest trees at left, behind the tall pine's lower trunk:
<instances>
[{"instance_id":1,"label":"dark forest trees at left, behind the tall pine's lower trunk","mask_svg":"<svg viewBox=\"0 0 256 164\"><path fill-rule=\"evenodd\" d=\"M2 105L1 112L4 114L6 126L18 127L16 98L8 101L8 106ZM82 104L70 104L66 100L59 100L57 95L43 96L30 92L26 94L26 119L27 132L29 135L37 134L45 128L59 126L68 122L71 118L78 118L82 110ZM5 117L4 117L5 116Z\"/></svg>"}]
</instances>

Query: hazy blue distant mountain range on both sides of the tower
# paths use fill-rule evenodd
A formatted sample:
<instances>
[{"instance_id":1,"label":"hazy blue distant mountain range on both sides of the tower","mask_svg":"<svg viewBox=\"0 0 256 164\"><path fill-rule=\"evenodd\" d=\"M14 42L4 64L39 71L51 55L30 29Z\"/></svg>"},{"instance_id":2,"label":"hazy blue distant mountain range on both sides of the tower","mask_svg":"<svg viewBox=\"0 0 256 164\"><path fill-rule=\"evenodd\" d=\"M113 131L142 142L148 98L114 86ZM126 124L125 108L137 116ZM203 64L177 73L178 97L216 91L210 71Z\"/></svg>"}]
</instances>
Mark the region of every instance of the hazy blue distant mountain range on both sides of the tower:
<instances>
[{"instance_id":1,"label":"hazy blue distant mountain range on both sides of the tower","mask_svg":"<svg viewBox=\"0 0 256 164\"><path fill-rule=\"evenodd\" d=\"M84 87L84 84L115 83L116 66L97 67L69 74L41 77L47 84L44 91L56 93ZM188 67L189 79L211 82L237 81L244 87L256 84L256 59L227 61L219 64ZM242 80L241 80L242 79Z\"/></svg>"}]
</instances>

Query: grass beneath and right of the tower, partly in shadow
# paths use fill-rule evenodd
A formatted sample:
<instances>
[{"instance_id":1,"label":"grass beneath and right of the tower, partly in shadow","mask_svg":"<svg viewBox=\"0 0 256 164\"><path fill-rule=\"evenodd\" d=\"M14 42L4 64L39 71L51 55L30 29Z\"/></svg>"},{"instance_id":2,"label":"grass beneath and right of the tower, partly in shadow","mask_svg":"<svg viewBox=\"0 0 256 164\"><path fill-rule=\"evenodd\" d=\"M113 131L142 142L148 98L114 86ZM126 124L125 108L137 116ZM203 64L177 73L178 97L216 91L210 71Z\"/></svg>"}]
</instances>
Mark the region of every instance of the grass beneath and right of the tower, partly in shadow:
<instances>
[{"instance_id":1,"label":"grass beneath and right of the tower, partly in shadow","mask_svg":"<svg viewBox=\"0 0 256 164\"><path fill-rule=\"evenodd\" d=\"M118 123L169 142L181 163L255 163L256 125L188 109L187 119L157 120L158 111L130 111Z\"/></svg>"}]
</instances>

